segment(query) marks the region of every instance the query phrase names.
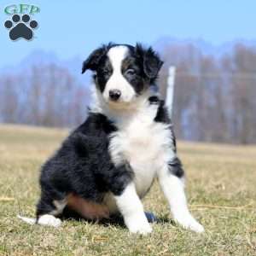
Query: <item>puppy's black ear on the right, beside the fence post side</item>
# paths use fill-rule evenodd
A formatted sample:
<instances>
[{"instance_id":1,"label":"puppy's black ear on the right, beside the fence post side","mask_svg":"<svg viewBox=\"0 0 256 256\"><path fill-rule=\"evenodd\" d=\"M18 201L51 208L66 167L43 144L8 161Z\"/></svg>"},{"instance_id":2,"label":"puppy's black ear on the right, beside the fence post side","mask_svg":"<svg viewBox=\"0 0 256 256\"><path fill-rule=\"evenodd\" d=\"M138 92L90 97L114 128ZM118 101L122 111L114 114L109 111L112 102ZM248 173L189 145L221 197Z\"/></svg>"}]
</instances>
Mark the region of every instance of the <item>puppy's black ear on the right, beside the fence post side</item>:
<instances>
[{"instance_id":1,"label":"puppy's black ear on the right, beside the fence post side","mask_svg":"<svg viewBox=\"0 0 256 256\"><path fill-rule=\"evenodd\" d=\"M148 79L156 79L164 62L160 60L159 55L151 47L144 49L141 44L137 44L136 51L143 58L143 71Z\"/></svg>"}]
</instances>

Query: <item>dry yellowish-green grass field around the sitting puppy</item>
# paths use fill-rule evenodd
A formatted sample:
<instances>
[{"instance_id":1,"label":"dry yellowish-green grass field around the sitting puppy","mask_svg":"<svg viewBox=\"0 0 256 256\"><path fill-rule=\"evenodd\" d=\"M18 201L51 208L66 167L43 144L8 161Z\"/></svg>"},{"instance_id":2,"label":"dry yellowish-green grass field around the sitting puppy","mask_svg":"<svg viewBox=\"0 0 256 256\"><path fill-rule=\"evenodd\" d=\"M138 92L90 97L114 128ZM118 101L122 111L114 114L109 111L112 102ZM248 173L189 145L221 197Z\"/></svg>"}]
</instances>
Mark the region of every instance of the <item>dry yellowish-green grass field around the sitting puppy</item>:
<instances>
[{"instance_id":1,"label":"dry yellowish-green grass field around the sitting puppy","mask_svg":"<svg viewBox=\"0 0 256 256\"><path fill-rule=\"evenodd\" d=\"M163 219L150 236L118 224L65 221L28 225L38 200L38 169L67 131L0 125L0 255L256 255L256 146L178 142L197 235L173 224L158 183L143 201Z\"/></svg>"}]
</instances>

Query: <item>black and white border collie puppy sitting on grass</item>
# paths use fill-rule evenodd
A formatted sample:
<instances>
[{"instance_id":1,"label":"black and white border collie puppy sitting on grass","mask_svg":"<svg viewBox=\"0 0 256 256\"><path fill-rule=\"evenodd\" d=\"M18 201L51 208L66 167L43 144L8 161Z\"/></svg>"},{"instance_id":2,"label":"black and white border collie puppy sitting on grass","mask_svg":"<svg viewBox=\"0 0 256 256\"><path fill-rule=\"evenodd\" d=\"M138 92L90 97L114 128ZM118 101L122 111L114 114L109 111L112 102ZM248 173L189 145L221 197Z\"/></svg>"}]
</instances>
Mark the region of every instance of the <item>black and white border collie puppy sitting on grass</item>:
<instances>
[{"instance_id":1,"label":"black and white border collie puppy sitting on grass","mask_svg":"<svg viewBox=\"0 0 256 256\"><path fill-rule=\"evenodd\" d=\"M141 199L157 177L177 223L204 230L189 212L172 123L152 90L162 64L140 44L108 44L90 54L82 69L94 72L88 118L42 167L37 218L20 218L59 226L64 207L87 219L120 212L131 233L147 234Z\"/></svg>"}]
</instances>

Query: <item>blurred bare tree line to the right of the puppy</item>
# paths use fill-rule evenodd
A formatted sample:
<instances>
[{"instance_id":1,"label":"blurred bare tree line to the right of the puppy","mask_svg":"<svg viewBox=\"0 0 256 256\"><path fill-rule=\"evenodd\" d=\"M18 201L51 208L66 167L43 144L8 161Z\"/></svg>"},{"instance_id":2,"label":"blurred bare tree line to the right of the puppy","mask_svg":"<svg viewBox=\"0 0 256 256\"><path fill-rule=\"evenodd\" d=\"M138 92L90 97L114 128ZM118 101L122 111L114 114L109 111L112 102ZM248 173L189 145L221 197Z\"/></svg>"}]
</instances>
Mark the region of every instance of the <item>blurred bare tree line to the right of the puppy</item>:
<instances>
[{"instance_id":1,"label":"blurred bare tree line to the right of the puppy","mask_svg":"<svg viewBox=\"0 0 256 256\"><path fill-rule=\"evenodd\" d=\"M256 143L256 48L237 44L218 57L189 45L167 45L160 73L165 96L168 67L176 67L173 123L177 137Z\"/></svg>"}]
</instances>

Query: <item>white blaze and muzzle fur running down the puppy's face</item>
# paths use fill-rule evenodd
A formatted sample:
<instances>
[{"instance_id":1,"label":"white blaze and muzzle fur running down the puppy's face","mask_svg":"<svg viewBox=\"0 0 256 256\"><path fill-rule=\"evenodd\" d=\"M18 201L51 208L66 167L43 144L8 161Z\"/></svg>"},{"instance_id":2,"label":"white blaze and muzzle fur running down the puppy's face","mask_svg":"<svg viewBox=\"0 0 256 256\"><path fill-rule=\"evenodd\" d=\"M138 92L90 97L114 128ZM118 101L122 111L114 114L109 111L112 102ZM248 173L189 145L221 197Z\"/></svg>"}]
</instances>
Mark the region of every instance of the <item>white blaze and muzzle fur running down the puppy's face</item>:
<instances>
[{"instance_id":1,"label":"white blaze and muzzle fur running down the puppy's face","mask_svg":"<svg viewBox=\"0 0 256 256\"><path fill-rule=\"evenodd\" d=\"M122 74L122 62L129 54L129 48L125 45L114 46L108 50L108 58L113 68L113 73L103 91L103 97L108 101L110 90L120 90L119 102L131 102L136 92Z\"/></svg>"}]
</instances>

